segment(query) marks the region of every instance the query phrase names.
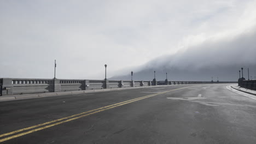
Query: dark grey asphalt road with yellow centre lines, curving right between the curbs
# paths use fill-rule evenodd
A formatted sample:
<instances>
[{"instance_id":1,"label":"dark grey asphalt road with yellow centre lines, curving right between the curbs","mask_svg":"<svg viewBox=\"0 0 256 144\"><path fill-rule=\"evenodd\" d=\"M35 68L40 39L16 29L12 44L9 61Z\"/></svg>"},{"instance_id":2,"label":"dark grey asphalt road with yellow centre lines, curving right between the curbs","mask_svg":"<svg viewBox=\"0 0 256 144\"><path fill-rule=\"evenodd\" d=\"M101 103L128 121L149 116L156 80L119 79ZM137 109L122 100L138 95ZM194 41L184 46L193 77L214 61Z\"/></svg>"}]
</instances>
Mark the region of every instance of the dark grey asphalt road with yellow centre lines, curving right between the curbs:
<instances>
[{"instance_id":1,"label":"dark grey asphalt road with yellow centre lines, curving right between the curbs","mask_svg":"<svg viewBox=\"0 0 256 144\"><path fill-rule=\"evenodd\" d=\"M256 100L230 91L227 85L176 85L3 101L0 141L255 143Z\"/></svg>"}]
</instances>

